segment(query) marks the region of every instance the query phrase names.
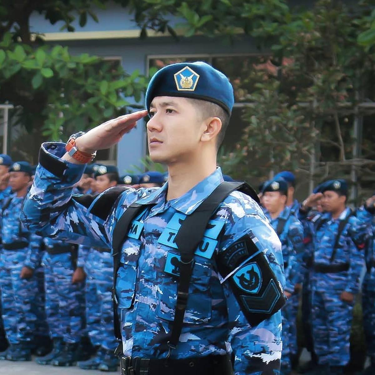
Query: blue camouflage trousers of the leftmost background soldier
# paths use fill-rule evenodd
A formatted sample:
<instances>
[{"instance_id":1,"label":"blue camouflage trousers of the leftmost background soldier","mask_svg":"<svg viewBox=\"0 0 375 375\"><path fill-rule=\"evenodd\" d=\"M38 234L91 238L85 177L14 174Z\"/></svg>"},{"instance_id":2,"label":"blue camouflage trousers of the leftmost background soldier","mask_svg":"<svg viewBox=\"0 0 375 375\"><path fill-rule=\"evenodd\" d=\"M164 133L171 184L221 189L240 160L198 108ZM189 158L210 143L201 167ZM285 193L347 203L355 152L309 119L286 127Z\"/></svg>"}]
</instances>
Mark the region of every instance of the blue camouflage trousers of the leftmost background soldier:
<instances>
[{"instance_id":1,"label":"blue camouflage trousers of the leftmost background soldier","mask_svg":"<svg viewBox=\"0 0 375 375\"><path fill-rule=\"evenodd\" d=\"M44 311L42 267L30 279L21 279L26 250L3 251L0 255L2 317L10 344L30 344L35 336L48 336Z\"/></svg>"}]
</instances>

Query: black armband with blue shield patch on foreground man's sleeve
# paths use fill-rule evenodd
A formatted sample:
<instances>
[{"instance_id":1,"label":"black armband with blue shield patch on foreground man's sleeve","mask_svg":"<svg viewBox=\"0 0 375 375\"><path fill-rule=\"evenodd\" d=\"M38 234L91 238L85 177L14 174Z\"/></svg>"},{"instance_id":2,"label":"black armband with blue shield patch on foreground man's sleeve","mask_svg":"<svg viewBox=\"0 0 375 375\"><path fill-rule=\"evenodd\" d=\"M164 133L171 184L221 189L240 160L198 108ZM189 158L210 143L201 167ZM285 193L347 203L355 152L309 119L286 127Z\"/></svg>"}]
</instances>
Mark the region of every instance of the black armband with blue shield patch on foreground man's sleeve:
<instances>
[{"instance_id":1,"label":"black armband with blue shield patch on foreground man's sleeve","mask_svg":"<svg viewBox=\"0 0 375 375\"><path fill-rule=\"evenodd\" d=\"M285 305L284 293L263 251L246 234L218 255L217 267L228 280L251 326L270 318ZM234 272L236 271L236 272Z\"/></svg>"}]
</instances>

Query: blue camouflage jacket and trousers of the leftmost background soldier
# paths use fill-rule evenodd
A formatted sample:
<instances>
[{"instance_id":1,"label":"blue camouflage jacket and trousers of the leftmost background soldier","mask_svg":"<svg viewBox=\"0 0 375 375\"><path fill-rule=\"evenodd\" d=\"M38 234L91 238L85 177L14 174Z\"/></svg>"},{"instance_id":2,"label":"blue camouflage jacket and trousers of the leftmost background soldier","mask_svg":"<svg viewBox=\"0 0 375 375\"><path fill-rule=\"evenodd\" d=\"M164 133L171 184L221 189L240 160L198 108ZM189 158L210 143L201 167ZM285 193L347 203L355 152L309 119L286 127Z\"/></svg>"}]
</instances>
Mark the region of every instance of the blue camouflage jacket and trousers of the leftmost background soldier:
<instances>
[{"instance_id":1,"label":"blue camouflage jacket and trousers of the leftmost background soldier","mask_svg":"<svg viewBox=\"0 0 375 375\"><path fill-rule=\"evenodd\" d=\"M24 197L15 194L1 210L2 251L0 283L2 316L10 344L31 345L35 336L48 336L44 311L44 279L40 264L41 237L30 233L20 222ZM7 207L6 207L7 206ZM9 244L23 243L17 250L5 250ZM34 270L30 279L21 279L21 269Z\"/></svg>"}]
</instances>

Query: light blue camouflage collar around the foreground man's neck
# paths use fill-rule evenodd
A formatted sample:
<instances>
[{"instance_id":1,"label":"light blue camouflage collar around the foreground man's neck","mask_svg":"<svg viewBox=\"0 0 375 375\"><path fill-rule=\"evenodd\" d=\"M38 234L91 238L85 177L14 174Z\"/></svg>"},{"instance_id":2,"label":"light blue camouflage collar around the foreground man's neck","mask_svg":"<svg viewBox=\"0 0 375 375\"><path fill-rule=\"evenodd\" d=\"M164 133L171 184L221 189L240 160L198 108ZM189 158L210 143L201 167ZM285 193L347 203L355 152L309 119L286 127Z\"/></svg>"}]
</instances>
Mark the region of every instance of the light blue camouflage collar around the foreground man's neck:
<instances>
[{"instance_id":1,"label":"light blue camouflage collar around the foreground man's neck","mask_svg":"<svg viewBox=\"0 0 375 375\"><path fill-rule=\"evenodd\" d=\"M217 186L223 181L223 174L221 168L217 167L216 170L206 177L204 180L196 184L192 189L186 192L180 198L171 199L168 204L175 210L189 215L193 213L196 208L210 195ZM138 204L158 204L162 201L165 202L166 193L168 191L168 183L165 183L159 189L152 191L144 198L138 199Z\"/></svg>"}]
</instances>

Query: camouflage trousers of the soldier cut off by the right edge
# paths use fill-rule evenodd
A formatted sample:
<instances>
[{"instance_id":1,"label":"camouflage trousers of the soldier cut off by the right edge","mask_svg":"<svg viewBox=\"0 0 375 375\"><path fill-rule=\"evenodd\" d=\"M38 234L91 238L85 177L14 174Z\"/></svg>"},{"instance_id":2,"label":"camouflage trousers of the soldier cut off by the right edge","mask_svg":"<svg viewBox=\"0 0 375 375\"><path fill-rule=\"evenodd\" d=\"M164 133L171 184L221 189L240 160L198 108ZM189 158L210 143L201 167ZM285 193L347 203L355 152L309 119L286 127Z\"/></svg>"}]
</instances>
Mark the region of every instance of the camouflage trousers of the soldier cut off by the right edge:
<instances>
[{"instance_id":1,"label":"camouflage trousers of the soldier cut off by the right edge","mask_svg":"<svg viewBox=\"0 0 375 375\"><path fill-rule=\"evenodd\" d=\"M367 353L375 358L375 280L369 274L363 280L362 310Z\"/></svg>"}]
</instances>

